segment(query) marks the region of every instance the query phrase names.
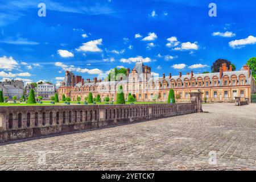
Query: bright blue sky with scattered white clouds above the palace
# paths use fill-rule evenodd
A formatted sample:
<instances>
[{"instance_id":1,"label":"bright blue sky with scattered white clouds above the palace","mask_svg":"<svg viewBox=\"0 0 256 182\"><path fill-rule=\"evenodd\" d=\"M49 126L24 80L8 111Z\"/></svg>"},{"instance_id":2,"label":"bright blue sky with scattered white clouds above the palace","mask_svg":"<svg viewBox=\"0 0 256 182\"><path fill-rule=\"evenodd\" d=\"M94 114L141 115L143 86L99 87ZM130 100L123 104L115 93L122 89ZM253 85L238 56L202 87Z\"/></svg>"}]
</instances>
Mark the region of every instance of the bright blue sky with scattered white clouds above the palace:
<instances>
[{"instance_id":1,"label":"bright blue sky with scattered white clouds above the palace","mask_svg":"<svg viewBox=\"0 0 256 182\"><path fill-rule=\"evenodd\" d=\"M38 16L45 3L46 17ZM217 5L210 17L209 3ZM0 80L59 84L66 69L104 77L138 60L155 73L238 69L256 52L256 2L185 0L2 1Z\"/></svg>"}]
</instances>

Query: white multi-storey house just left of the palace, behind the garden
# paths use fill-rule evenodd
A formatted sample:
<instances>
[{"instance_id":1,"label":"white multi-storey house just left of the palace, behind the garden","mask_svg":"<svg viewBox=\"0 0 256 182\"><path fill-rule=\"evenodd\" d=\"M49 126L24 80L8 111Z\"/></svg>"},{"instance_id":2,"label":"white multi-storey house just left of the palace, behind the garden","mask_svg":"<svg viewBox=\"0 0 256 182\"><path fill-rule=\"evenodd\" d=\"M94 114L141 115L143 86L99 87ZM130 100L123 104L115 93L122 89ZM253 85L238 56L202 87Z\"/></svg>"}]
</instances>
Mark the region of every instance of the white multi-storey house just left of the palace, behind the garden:
<instances>
[{"instance_id":1,"label":"white multi-storey house just left of the palace, behind the garden","mask_svg":"<svg viewBox=\"0 0 256 182\"><path fill-rule=\"evenodd\" d=\"M48 83L38 84L36 90L38 91L38 96L42 96L44 100L49 100L55 95L56 85Z\"/></svg>"}]
</instances>

